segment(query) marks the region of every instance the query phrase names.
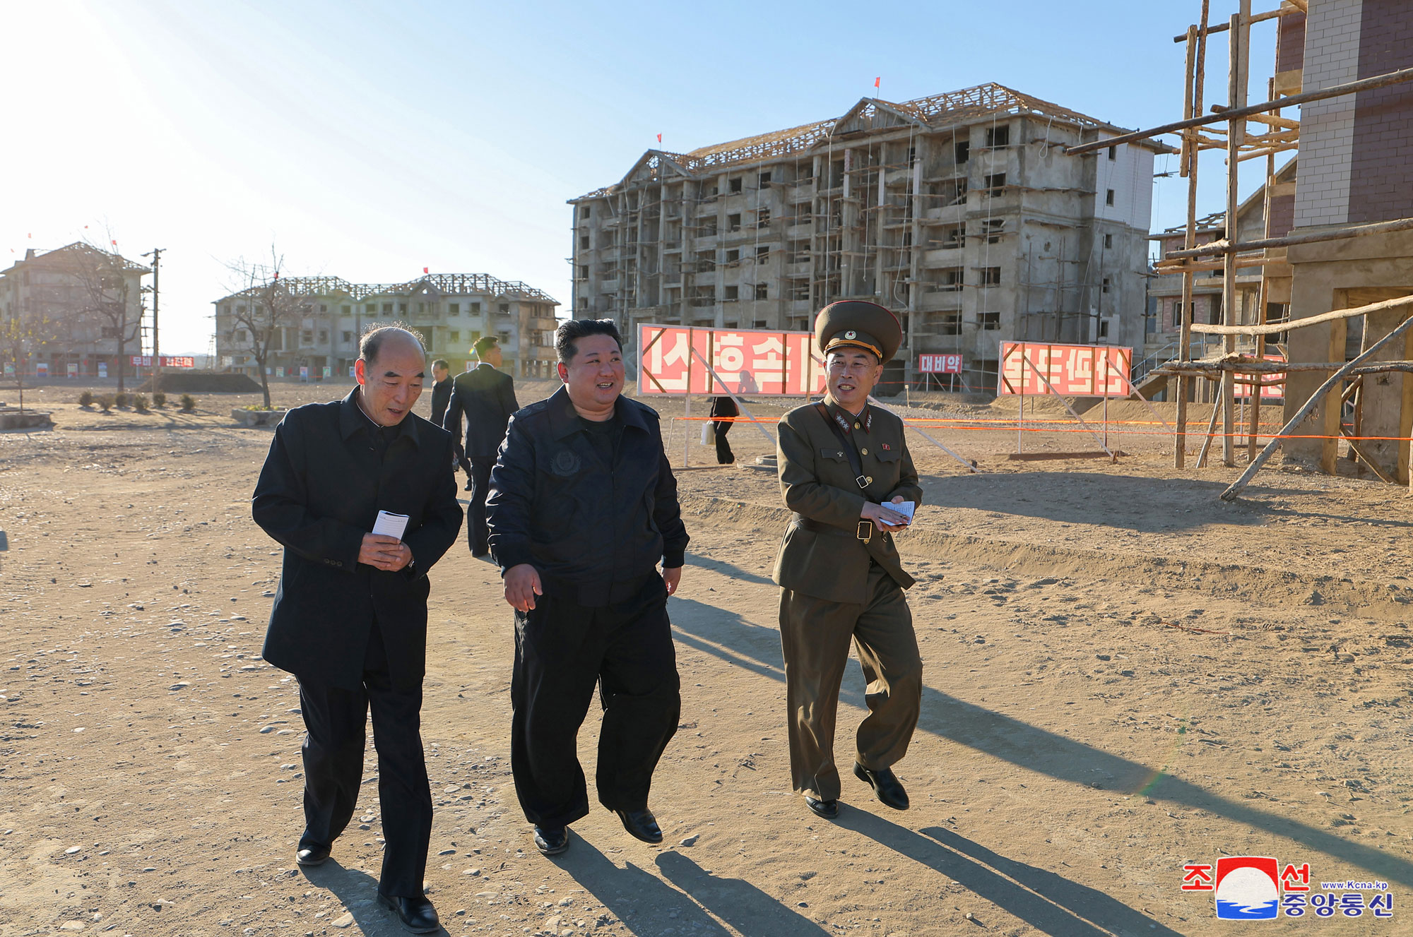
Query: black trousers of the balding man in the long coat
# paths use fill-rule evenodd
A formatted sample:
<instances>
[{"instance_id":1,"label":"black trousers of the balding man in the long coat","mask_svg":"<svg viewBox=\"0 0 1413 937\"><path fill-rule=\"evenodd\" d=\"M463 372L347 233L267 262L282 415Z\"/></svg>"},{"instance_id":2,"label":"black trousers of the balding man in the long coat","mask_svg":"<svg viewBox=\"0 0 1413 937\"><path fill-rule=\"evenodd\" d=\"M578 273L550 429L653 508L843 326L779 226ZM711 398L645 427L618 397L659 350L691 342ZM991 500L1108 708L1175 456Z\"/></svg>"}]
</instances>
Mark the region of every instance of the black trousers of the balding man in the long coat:
<instances>
[{"instance_id":1,"label":"black trousers of the balding man in the long coat","mask_svg":"<svg viewBox=\"0 0 1413 937\"><path fill-rule=\"evenodd\" d=\"M377 625L367 639L363 686L346 690L300 680L304 711L304 835L300 848L332 845L353 817L363 779L367 713L373 710L377 799L383 811L384 895L417 897L427 872L432 794L422 756L422 690L394 687Z\"/></svg>"}]
</instances>

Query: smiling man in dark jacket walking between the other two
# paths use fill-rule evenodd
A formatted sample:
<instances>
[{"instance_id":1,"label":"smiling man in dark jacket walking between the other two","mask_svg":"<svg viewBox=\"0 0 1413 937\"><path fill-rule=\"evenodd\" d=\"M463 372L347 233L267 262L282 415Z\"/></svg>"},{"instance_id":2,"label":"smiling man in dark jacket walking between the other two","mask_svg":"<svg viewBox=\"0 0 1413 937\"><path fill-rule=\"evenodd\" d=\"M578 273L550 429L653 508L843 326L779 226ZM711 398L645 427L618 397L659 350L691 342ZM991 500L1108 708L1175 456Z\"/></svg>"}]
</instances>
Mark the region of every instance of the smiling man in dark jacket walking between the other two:
<instances>
[{"instance_id":1,"label":"smiling man in dark jacket walking between the other two","mask_svg":"<svg viewBox=\"0 0 1413 937\"><path fill-rule=\"evenodd\" d=\"M647 794L681 711L667 597L688 539L657 412L620 395L612 320L565 322L555 347L565 385L510 419L486 504L516 610L510 769L545 855L589 811L575 737L595 683L599 802L663 840Z\"/></svg>"}]
</instances>

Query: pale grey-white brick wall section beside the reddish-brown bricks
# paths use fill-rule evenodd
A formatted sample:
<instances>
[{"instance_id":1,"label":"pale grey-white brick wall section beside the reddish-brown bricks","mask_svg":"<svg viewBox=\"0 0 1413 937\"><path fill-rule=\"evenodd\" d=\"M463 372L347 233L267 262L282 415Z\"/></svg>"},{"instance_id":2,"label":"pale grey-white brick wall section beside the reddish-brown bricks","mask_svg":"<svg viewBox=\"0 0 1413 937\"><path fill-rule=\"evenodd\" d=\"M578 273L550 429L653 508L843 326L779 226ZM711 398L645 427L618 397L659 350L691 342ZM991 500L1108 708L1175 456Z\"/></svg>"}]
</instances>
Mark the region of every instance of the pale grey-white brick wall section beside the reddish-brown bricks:
<instances>
[{"instance_id":1,"label":"pale grey-white brick wall section beside the reddish-brown bricks","mask_svg":"<svg viewBox=\"0 0 1413 937\"><path fill-rule=\"evenodd\" d=\"M1303 90L1331 87L1358 78L1362 7L1364 0L1317 0L1310 4ZM1301 104L1297 226L1348 222L1354 119L1354 95Z\"/></svg>"}]
</instances>

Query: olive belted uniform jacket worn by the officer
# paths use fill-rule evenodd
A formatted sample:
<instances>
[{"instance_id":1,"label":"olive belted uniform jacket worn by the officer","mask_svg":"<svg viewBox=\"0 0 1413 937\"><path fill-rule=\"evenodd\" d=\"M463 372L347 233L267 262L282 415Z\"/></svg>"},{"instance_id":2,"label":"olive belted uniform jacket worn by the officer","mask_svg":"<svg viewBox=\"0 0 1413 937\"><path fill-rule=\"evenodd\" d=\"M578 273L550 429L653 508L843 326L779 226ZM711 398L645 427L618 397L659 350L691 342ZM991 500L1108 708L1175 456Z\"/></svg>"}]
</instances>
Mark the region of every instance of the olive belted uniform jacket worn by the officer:
<instances>
[{"instance_id":1,"label":"olive belted uniform jacket worn by the officer","mask_svg":"<svg viewBox=\"0 0 1413 937\"><path fill-rule=\"evenodd\" d=\"M868 543L858 538L863 502L886 504L903 495L904 501L921 504L923 490L901 419L872 404L858 419L834 404L827 406L845 421L845 439L858 450L870 481L859 488L848 453L814 404L786 413L777 443L780 492L796 515L780 542L773 579L791 591L862 605L868 600L870 559L903 588L914 581L903 572L890 533L875 528ZM844 432L844 426L839 429Z\"/></svg>"}]
</instances>

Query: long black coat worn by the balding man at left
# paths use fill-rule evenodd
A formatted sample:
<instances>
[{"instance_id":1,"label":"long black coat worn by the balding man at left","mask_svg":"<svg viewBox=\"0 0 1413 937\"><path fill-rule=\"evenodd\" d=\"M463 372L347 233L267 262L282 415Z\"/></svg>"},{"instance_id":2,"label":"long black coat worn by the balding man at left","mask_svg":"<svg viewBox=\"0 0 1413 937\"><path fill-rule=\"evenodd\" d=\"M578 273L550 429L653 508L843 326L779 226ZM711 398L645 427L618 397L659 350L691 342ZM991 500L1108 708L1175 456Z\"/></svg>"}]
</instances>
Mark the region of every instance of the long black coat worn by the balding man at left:
<instances>
[{"instance_id":1,"label":"long black coat worn by the balding man at left","mask_svg":"<svg viewBox=\"0 0 1413 937\"><path fill-rule=\"evenodd\" d=\"M300 406L280 421L252 498L252 515L284 545L264 659L301 680L356 689L377 621L393 680L421 683L427 656L427 570L461 531L451 435L408 413L379 459L357 389ZM357 562L379 511L408 515L413 566Z\"/></svg>"}]
</instances>

